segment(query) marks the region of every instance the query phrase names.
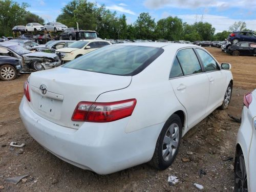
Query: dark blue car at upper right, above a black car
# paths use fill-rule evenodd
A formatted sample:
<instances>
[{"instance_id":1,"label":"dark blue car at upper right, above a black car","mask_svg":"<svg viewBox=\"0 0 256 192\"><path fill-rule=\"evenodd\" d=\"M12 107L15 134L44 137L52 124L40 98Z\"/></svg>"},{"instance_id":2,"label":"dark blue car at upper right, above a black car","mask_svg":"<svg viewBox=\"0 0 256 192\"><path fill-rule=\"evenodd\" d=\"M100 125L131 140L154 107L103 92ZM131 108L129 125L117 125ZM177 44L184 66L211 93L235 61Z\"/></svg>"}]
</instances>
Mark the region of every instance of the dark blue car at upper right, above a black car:
<instances>
[{"instance_id":1,"label":"dark blue car at upper right, above a black car","mask_svg":"<svg viewBox=\"0 0 256 192\"><path fill-rule=\"evenodd\" d=\"M249 31L234 31L227 40L232 44L237 44L239 41L256 42L256 34Z\"/></svg>"}]
</instances>

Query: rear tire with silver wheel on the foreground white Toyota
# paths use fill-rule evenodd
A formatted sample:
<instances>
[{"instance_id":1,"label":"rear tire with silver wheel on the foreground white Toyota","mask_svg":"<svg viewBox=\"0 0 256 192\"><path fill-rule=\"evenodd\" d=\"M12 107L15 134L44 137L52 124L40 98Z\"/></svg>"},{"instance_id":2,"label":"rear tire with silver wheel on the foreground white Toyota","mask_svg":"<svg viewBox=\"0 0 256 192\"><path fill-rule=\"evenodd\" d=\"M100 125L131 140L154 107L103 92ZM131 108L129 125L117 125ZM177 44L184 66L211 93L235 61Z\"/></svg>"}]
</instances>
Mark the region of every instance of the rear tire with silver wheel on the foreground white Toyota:
<instances>
[{"instance_id":1,"label":"rear tire with silver wheel on the foreground white Toyota","mask_svg":"<svg viewBox=\"0 0 256 192\"><path fill-rule=\"evenodd\" d=\"M149 164L157 169L166 169L170 166L178 153L181 143L181 135L181 119L178 115L173 114L163 126L157 139L153 158Z\"/></svg>"}]
</instances>

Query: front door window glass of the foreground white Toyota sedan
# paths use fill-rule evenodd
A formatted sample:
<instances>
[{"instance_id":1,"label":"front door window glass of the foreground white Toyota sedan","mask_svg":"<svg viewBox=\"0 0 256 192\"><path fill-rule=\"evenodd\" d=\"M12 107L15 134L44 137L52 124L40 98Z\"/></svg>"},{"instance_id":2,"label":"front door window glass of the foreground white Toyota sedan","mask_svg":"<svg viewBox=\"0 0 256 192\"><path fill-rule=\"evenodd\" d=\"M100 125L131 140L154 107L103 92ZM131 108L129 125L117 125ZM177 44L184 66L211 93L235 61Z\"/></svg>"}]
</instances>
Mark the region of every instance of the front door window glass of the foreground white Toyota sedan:
<instances>
[{"instance_id":1,"label":"front door window glass of the foreground white Toyota sedan","mask_svg":"<svg viewBox=\"0 0 256 192\"><path fill-rule=\"evenodd\" d=\"M206 53L202 49L196 49L196 50L203 62L205 71L215 71L219 69L217 62L208 53Z\"/></svg>"}]
</instances>

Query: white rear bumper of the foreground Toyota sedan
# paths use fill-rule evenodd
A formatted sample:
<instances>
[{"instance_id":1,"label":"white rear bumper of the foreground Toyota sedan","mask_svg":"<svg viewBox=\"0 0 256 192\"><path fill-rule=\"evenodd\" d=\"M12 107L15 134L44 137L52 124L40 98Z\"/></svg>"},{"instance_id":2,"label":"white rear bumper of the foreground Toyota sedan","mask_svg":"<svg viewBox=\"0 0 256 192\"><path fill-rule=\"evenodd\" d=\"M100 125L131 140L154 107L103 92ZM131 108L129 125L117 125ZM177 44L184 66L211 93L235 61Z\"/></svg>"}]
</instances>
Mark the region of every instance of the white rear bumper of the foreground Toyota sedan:
<instances>
[{"instance_id":1,"label":"white rear bumper of the foreground Toyota sedan","mask_svg":"<svg viewBox=\"0 0 256 192\"><path fill-rule=\"evenodd\" d=\"M23 97L20 117L29 134L60 159L98 174L110 174L151 160L164 123L125 133L129 117L109 123L85 122L70 129L35 114Z\"/></svg>"}]
</instances>

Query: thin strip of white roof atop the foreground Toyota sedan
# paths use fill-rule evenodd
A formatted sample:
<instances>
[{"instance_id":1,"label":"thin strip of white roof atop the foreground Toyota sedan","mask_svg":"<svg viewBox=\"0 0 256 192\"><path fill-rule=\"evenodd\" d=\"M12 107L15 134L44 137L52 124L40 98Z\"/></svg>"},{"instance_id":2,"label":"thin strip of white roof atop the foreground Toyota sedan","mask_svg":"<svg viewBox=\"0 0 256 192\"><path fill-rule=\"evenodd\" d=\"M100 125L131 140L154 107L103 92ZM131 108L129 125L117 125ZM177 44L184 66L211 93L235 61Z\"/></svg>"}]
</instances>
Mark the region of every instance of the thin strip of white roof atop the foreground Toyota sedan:
<instances>
[{"instance_id":1,"label":"thin strip of white roof atop the foreground Toyota sedan","mask_svg":"<svg viewBox=\"0 0 256 192\"><path fill-rule=\"evenodd\" d=\"M180 43L174 43L174 42L127 42L125 44L114 44L114 46L126 46L126 45L131 45L131 46L147 46L147 47L157 47L157 48L162 48L165 46L172 46L176 49L180 48L185 48L185 47L199 47L197 45L193 44L180 44Z\"/></svg>"}]
</instances>

